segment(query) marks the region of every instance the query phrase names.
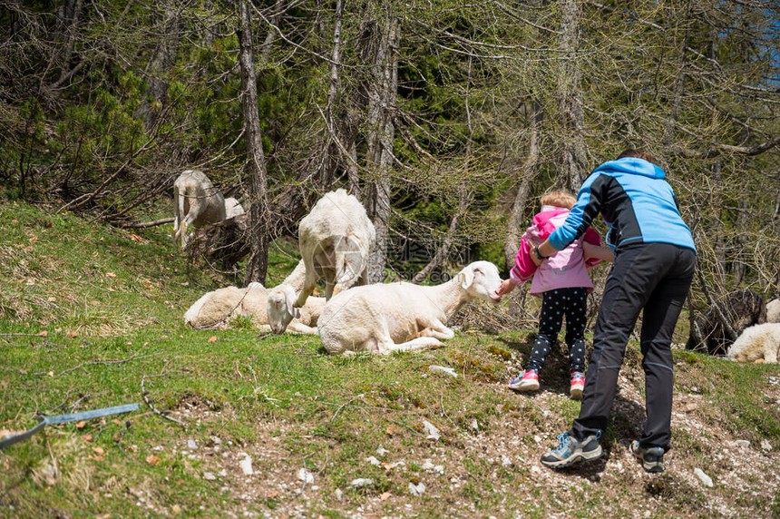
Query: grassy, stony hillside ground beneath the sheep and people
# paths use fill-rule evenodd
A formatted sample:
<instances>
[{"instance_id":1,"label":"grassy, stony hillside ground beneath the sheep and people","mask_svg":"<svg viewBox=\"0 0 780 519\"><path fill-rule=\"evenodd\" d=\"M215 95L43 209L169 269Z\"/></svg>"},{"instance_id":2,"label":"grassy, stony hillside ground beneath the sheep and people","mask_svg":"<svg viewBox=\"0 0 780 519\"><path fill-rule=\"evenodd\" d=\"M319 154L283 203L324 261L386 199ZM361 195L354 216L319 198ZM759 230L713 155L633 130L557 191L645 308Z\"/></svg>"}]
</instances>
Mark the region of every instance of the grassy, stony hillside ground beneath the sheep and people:
<instances>
[{"instance_id":1,"label":"grassy, stony hillside ground beneath the sheep and people","mask_svg":"<svg viewBox=\"0 0 780 519\"><path fill-rule=\"evenodd\" d=\"M648 475L627 449L644 398L631 343L608 455L554 473L538 457L580 404L560 351L539 394L505 389L531 330L349 358L246 322L191 330L184 311L227 281L188 271L168 231L0 204L0 436L36 413L141 404L0 451L0 516L780 516L776 365L676 351L673 450ZM295 259L270 263L273 284Z\"/></svg>"}]
</instances>

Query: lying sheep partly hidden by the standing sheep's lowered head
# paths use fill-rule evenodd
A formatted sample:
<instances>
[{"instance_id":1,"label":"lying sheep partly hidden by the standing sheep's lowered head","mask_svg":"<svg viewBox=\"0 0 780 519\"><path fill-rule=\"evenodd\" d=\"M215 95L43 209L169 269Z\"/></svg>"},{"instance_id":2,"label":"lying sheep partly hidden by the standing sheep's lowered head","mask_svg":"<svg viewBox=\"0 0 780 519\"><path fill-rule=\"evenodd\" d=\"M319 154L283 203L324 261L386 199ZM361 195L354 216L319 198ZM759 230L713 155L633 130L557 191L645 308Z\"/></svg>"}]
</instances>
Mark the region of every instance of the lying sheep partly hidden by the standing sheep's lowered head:
<instances>
[{"instance_id":1,"label":"lying sheep partly hidden by the standing sheep's lowered head","mask_svg":"<svg viewBox=\"0 0 780 519\"><path fill-rule=\"evenodd\" d=\"M271 331L268 319L268 298L279 289L291 290L290 307L295 300L295 287L303 285L304 267L299 262L296 269L276 289L266 289L260 283L249 283L246 289L225 287L213 290L198 299L184 314L184 322L191 328L225 328L229 320L248 316L263 331ZM283 292L285 293L285 292ZM324 298L309 298L303 308L296 308L296 318L288 321L289 331L317 334L317 318L325 306ZM284 331L284 330L282 330ZM279 332L280 333L280 332Z\"/></svg>"}]
</instances>

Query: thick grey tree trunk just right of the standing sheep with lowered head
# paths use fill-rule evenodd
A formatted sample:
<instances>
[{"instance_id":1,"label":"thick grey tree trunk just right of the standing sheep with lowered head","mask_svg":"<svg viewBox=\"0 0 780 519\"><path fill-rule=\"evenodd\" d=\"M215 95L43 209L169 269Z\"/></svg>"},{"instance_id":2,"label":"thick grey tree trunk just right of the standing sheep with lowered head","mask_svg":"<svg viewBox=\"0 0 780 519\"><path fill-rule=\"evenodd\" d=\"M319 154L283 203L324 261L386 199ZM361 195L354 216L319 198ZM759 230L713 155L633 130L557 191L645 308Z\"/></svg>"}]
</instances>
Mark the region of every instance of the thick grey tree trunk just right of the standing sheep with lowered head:
<instances>
[{"instance_id":1,"label":"thick grey tree trunk just right of the standing sheep with lowered head","mask_svg":"<svg viewBox=\"0 0 780 519\"><path fill-rule=\"evenodd\" d=\"M388 10L389 4L383 5ZM390 177L393 164L393 110L398 84L399 27L395 16L382 20L368 20L373 25L371 39L375 40L372 73L369 74L367 109L367 157L368 174L374 181L367 200L368 215L374 223L376 242L369 257L368 278L372 283L385 278L385 253L389 236ZM369 29L371 30L371 29ZM369 45L371 42L369 42Z\"/></svg>"}]
</instances>

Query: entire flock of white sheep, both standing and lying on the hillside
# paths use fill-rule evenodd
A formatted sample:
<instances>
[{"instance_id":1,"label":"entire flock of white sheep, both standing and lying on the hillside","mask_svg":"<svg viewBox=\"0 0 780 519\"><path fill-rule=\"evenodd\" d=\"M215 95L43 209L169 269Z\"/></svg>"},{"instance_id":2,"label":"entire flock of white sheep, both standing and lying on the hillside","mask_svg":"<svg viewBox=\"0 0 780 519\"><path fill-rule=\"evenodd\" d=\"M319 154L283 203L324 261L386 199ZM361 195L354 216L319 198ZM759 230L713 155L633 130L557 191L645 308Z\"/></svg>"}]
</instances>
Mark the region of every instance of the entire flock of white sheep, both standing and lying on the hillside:
<instances>
[{"instance_id":1,"label":"entire flock of white sheep, both standing and lying on the hillside","mask_svg":"<svg viewBox=\"0 0 780 519\"><path fill-rule=\"evenodd\" d=\"M174 241L186 246L186 231L242 214L238 201L225 199L201 171L184 171L174 182ZM363 204L343 189L328 192L300 221L301 260L277 287L250 283L203 295L184 314L192 328L225 328L231 319L250 318L257 328L319 335L329 353L388 354L441 346L453 338L447 321L473 299L498 303L498 268L475 261L436 286L408 282L368 284L368 254L375 229ZM325 298L312 297L325 279ZM764 305L750 327L727 349L736 361L777 362L780 299ZM751 323L752 324L752 323ZM714 353L710 351L710 353Z\"/></svg>"}]
</instances>

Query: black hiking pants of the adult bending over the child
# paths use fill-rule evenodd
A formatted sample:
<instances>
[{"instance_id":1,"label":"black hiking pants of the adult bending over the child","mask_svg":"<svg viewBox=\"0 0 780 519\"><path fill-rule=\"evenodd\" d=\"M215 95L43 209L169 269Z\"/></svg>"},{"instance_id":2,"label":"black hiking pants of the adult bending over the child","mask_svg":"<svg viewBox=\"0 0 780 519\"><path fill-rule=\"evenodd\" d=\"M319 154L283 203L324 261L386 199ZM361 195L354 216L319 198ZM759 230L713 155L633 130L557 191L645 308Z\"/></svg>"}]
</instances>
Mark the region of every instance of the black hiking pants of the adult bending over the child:
<instances>
[{"instance_id":1,"label":"black hiking pants of the adult bending over the child","mask_svg":"<svg viewBox=\"0 0 780 519\"><path fill-rule=\"evenodd\" d=\"M685 247L640 243L619 249L596 320L580 416L570 435L581 440L607 428L629 335L644 308L640 340L647 420L639 445L668 450L674 385L671 338L695 268L696 252Z\"/></svg>"}]
</instances>

